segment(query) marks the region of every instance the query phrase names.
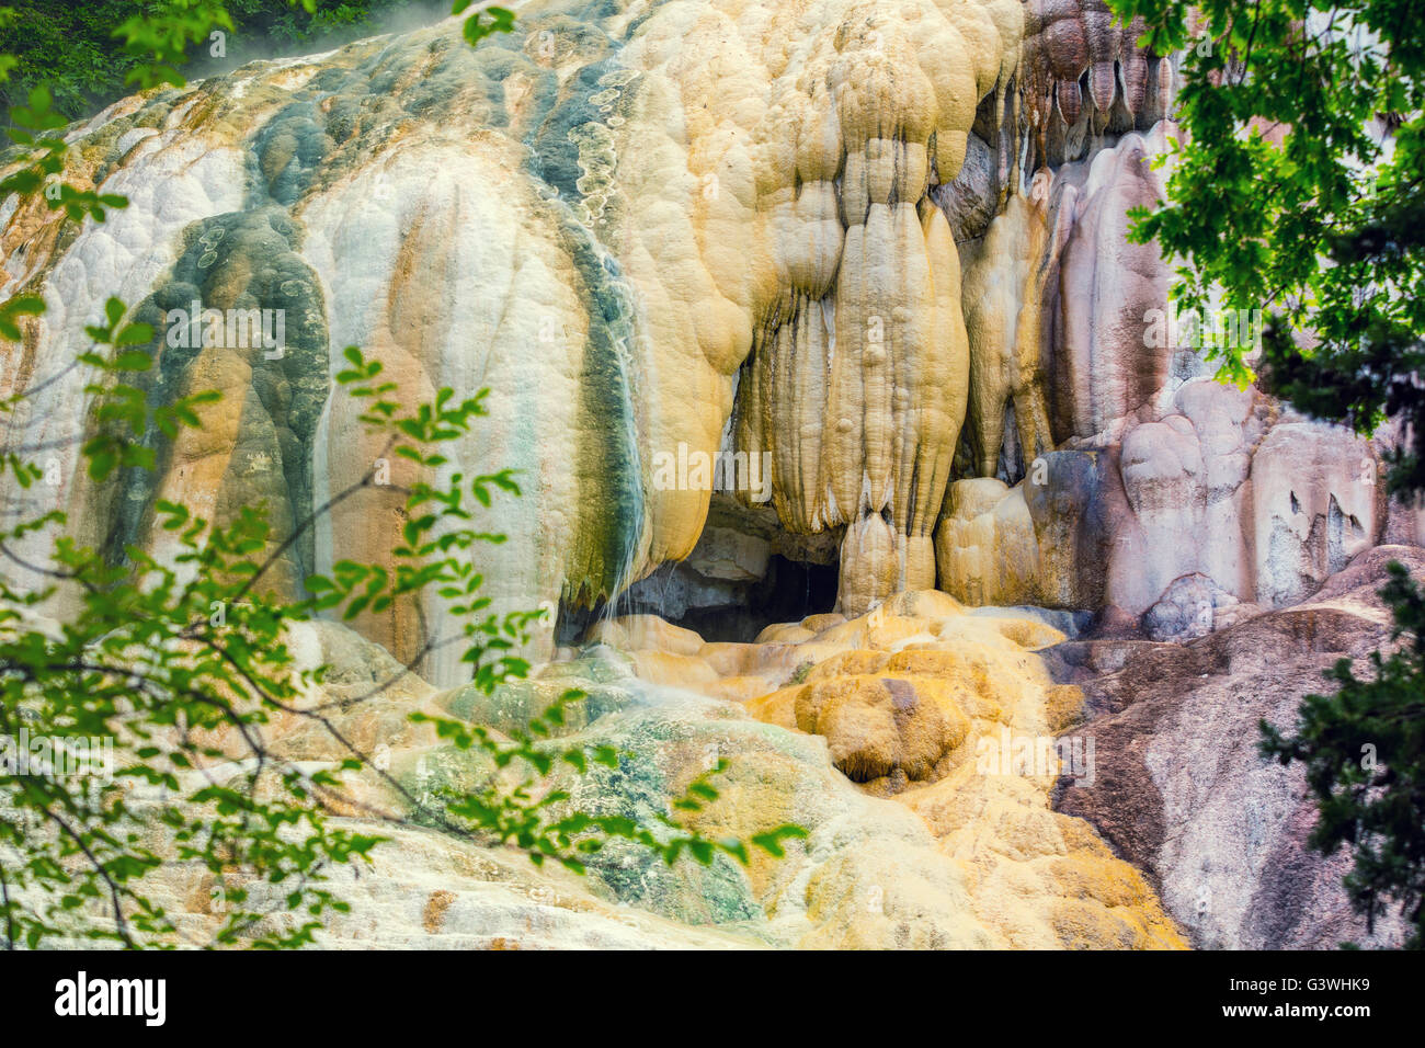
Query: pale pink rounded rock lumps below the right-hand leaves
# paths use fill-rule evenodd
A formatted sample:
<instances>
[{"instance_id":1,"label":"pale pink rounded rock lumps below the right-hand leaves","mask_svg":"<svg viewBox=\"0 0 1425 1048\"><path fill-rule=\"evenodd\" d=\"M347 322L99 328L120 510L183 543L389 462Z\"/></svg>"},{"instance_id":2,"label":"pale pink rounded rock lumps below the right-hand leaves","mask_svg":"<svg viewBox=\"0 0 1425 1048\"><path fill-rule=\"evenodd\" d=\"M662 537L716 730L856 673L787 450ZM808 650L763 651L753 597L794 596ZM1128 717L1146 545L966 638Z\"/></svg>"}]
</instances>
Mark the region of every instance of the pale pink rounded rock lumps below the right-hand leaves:
<instances>
[{"instance_id":1,"label":"pale pink rounded rock lumps below the right-hand leaves","mask_svg":"<svg viewBox=\"0 0 1425 1048\"><path fill-rule=\"evenodd\" d=\"M1273 415L1254 389L1197 378L1130 425L1123 500L1104 502L1106 602L1139 615L1200 573L1233 600L1281 607L1382 539L1371 442L1341 426L1271 425Z\"/></svg>"}]
</instances>

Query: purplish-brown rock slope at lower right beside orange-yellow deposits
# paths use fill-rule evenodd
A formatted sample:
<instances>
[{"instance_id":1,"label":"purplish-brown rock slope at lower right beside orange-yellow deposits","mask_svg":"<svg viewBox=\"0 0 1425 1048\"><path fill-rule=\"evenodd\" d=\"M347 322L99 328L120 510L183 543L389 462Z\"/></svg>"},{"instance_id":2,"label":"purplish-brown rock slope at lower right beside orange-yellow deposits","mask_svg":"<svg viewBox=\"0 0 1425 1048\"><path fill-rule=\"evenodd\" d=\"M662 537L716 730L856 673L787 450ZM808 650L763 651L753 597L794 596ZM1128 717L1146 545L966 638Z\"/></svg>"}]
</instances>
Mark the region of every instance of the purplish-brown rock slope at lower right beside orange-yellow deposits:
<instances>
[{"instance_id":1,"label":"purplish-brown rock slope at lower right beside orange-yellow deposits","mask_svg":"<svg viewBox=\"0 0 1425 1048\"><path fill-rule=\"evenodd\" d=\"M1187 646L1082 640L1050 657L1054 676L1086 694L1086 723L1073 730L1096 739L1099 761L1092 787L1069 784L1057 808L1149 871L1196 947L1399 947L1398 914L1374 934L1352 914L1341 887L1348 854L1324 860L1308 847L1315 801L1301 766L1257 753L1257 721L1290 729L1302 696L1331 690L1324 673L1338 659L1371 676L1367 657L1389 644L1377 592L1391 560L1425 575L1419 549L1379 546L1302 603Z\"/></svg>"}]
</instances>

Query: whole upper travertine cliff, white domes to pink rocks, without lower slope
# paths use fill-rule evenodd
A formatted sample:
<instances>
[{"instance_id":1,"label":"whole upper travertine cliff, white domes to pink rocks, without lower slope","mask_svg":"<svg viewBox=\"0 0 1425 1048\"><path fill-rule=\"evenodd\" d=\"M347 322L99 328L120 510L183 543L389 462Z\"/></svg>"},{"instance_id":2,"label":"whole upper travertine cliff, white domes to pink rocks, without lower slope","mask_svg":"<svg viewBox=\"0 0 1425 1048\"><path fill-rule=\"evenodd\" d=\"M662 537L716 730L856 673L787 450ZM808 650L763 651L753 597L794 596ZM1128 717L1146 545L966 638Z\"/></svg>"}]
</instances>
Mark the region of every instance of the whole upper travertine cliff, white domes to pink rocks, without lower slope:
<instances>
[{"instance_id":1,"label":"whole upper travertine cliff, white domes to pink rocks, without lower slope","mask_svg":"<svg viewBox=\"0 0 1425 1048\"><path fill-rule=\"evenodd\" d=\"M1154 84L1171 63L1110 30L1099 0L519 13L517 34L476 50L443 23L77 128L67 177L133 202L64 235L41 201L0 215L4 291L48 304L7 349L4 391L36 391L11 443L84 432L87 379L67 365L111 292L160 329L155 398L224 401L201 436L154 438L157 475L94 489L56 448L56 483L11 509L67 508L118 558L161 548L160 498L219 520L264 502L281 536L380 466L390 488L341 502L284 570L296 585L338 546L382 560L409 469L378 463L332 395L356 344L412 396L490 388L489 425L450 469L524 476L497 508L499 607L596 605L690 556L718 481L770 499L784 548L836 546L852 613L943 585L1139 615L1198 570L1281 603L1381 538L1374 492L1344 486L1374 456L1362 445L1268 441L1273 486L1248 503L1261 433L1240 396L1168 409L1204 365L1151 337L1167 268L1126 242L1126 212L1161 192ZM1064 128L1097 114L1083 160L1026 153L1049 103ZM279 311L284 344L175 344L195 308ZM1056 448L1096 458L1050 469ZM1321 488L1308 475L1327 462ZM988 493L946 498L952 482L993 476L1032 485L992 515L1009 533L960 535ZM684 605L727 599L703 582ZM428 627L405 606L362 622L398 654Z\"/></svg>"}]
</instances>

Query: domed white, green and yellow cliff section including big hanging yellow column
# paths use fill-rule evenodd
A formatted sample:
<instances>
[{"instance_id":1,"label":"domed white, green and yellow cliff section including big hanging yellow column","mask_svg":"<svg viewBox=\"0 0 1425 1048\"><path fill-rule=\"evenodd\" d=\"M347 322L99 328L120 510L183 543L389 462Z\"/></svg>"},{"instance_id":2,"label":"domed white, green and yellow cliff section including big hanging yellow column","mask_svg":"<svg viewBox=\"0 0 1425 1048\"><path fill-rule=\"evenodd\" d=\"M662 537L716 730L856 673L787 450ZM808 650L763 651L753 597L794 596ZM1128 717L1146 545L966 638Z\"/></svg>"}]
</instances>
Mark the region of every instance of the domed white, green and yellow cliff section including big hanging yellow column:
<instances>
[{"instance_id":1,"label":"domed white, green and yellow cliff section including big hanging yellow column","mask_svg":"<svg viewBox=\"0 0 1425 1048\"><path fill-rule=\"evenodd\" d=\"M750 359L738 446L774 453L789 529L848 525L848 606L933 585L968 358L958 254L926 192L959 171L979 101L1003 104L1019 4L519 14L477 50L447 21L130 98L76 131L67 177L133 204L73 238L43 202L6 214L6 291L50 305L7 389L63 371L111 292L161 332L192 302L282 309L286 344L161 335L157 395L225 392L207 432L160 442L157 479L101 492L58 453L50 505L115 553L154 540L160 496L219 519L265 499L291 528L379 456L329 396L333 348L358 344L410 395L492 389L457 465L529 485L502 510L490 589L512 607L590 603L694 548L711 485L663 459L718 451ZM83 429L83 384L44 386L31 436ZM338 535L380 559L398 500L343 502L294 546L291 577ZM366 629L420 640L400 612Z\"/></svg>"}]
</instances>

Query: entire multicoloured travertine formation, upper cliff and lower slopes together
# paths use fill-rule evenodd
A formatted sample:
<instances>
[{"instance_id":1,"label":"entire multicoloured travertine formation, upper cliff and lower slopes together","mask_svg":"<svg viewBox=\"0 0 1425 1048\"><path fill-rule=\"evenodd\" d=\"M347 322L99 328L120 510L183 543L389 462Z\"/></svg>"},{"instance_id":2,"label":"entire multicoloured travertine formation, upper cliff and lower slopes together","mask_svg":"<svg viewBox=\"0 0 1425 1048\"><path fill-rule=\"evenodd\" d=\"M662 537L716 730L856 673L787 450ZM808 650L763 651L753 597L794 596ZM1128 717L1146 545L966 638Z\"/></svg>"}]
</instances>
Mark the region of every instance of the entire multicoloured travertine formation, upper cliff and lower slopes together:
<instances>
[{"instance_id":1,"label":"entire multicoloured travertine formation, upper cliff and lower slopes together","mask_svg":"<svg viewBox=\"0 0 1425 1048\"><path fill-rule=\"evenodd\" d=\"M1357 656L1382 636L1367 596L1311 595L1381 542L1419 542L1425 512L1378 482L1388 435L1217 384L1204 346L1164 324L1170 269L1127 242L1127 212L1164 191L1176 57L1102 0L512 6L516 31L477 48L446 20L68 128L66 178L130 198L104 224L0 202L0 294L47 305L3 346L0 395L28 391L4 446L46 449L46 482L7 486L7 513L64 509L117 562L171 552L161 499L219 523L265 505L274 543L335 499L272 576L296 592L339 558L389 566L415 476L336 389L342 349L379 359L410 402L487 388L440 479L519 471L522 498L480 512L509 540L479 567L492 610L556 612L527 646L539 669L487 699L440 647L343 730L386 746L413 787L459 784L479 769L408 713L509 729L579 686L590 714L571 730L634 757L571 783L577 803L651 816L720 754L708 828L811 831L750 871L610 848L571 880L358 779L403 824L328 941L1349 931L1340 867L1301 848L1290 776L1248 760L1240 699L1285 716L1322 644ZM147 438L155 471L98 485L77 458L94 423L73 364L108 295L155 327L150 399L222 399L201 431ZM281 311L285 342L172 341L192 308ZM54 538L14 552L43 562ZM755 643L668 622L755 632L788 563L808 595L812 566L835 592ZM422 652L442 616L432 597L355 633L296 629L346 694ZM1057 626L1090 617L1096 639L1060 643ZM996 740L1053 743L1087 717L1097 783L1076 777L1062 810L1053 774L986 770ZM345 756L302 719L271 731L294 759ZM1184 753L1214 774L1184 771ZM363 824L359 807L343 817ZM208 888L180 881L165 898L201 937Z\"/></svg>"}]
</instances>

